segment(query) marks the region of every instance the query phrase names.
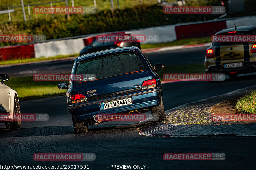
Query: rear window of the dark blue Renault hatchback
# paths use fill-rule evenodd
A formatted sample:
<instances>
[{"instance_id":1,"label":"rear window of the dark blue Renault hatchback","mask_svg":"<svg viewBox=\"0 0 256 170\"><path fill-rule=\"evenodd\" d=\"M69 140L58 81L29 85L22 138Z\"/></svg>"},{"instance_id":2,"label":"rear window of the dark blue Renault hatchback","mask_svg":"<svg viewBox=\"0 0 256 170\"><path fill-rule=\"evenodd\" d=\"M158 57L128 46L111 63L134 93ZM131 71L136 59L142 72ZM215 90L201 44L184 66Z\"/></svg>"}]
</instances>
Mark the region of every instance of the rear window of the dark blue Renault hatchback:
<instances>
[{"instance_id":1,"label":"rear window of the dark blue Renault hatchback","mask_svg":"<svg viewBox=\"0 0 256 170\"><path fill-rule=\"evenodd\" d=\"M137 53L121 53L79 63L76 74L82 74L83 79L76 83L93 81L123 74L146 70Z\"/></svg>"}]
</instances>

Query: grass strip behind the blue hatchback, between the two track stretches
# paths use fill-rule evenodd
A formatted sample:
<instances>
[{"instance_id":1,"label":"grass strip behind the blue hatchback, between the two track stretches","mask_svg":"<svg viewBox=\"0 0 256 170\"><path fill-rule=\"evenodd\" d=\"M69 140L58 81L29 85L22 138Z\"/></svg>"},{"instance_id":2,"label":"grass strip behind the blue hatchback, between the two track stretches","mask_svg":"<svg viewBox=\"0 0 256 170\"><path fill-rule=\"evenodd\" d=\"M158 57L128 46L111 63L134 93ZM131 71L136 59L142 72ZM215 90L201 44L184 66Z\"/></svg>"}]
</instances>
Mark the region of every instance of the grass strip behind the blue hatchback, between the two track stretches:
<instances>
[{"instance_id":1,"label":"grass strip behind the blue hatchback, between the two track stretches","mask_svg":"<svg viewBox=\"0 0 256 170\"><path fill-rule=\"evenodd\" d=\"M164 73L204 73L203 64L165 66L163 70L157 72L163 80ZM33 76L11 77L4 84L17 91L19 100L46 98L65 95L66 89L58 89L60 81L34 81Z\"/></svg>"}]
</instances>

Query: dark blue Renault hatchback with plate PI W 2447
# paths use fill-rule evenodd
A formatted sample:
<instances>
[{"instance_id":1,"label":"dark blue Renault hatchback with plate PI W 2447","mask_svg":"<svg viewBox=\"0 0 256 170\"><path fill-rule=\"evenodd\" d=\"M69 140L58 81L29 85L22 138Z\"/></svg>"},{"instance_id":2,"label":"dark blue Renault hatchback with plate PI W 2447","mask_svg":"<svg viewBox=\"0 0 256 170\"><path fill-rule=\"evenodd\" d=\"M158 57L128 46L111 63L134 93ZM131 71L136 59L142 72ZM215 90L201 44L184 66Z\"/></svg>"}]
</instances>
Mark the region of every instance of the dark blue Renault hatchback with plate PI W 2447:
<instances>
[{"instance_id":1,"label":"dark blue Renault hatchback with plate PI W 2447","mask_svg":"<svg viewBox=\"0 0 256 170\"><path fill-rule=\"evenodd\" d=\"M87 132L88 124L102 121L98 115L151 111L155 121L165 120L162 85L156 71L163 64L150 65L135 46L103 50L77 57L71 74L90 74L89 78L62 82L68 89L68 110L75 133Z\"/></svg>"}]
</instances>

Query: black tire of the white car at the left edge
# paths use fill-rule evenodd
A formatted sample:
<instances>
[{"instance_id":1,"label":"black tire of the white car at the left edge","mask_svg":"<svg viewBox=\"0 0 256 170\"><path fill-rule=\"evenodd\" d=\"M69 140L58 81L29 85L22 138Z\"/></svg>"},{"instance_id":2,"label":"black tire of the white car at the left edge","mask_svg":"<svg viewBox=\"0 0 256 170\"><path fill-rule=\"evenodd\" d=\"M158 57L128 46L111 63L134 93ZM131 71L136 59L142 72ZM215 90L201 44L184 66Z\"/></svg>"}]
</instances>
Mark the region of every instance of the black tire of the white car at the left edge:
<instances>
[{"instance_id":1,"label":"black tire of the white car at the left edge","mask_svg":"<svg viewBox=\"0 0 256 170\"><path fill-rule=\"evenodd\" d=\"M18 101L18 97L14 96L14 119L16 119L16 121L8 121L8 122L4 122L5 127L7 129L17 129L20 128L21 126L21 111L20 111L20 104ZM20 118L20 119L19 119Z\"/></svg>"}]
</instances>

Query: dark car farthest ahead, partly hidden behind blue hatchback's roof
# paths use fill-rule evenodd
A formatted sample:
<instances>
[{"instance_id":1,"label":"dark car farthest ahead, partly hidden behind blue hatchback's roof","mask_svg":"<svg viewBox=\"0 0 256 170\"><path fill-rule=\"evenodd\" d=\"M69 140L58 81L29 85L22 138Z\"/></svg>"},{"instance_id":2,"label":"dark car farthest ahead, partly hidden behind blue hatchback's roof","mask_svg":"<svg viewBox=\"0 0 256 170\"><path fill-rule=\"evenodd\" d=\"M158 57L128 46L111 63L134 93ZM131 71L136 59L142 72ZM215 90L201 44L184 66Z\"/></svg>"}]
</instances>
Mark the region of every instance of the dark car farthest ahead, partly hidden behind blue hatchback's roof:
<instances>
[{"instance_id":1,"label":"dark car farthest ahead, partly hidden behind blue hatchback's roof","mask_svg":"<svg viewBox=\"0 0 256 170\"><path fill-rule=\"evenodd\" d=\"M103 35L104 36L104 35ZM114 35L111 35L114 36ZM116 37L122 36L122 38L125 38L127 36L133 37L131 34L118 34ZM111 48L117 48L117 47L125 47L125 46L137 46L139 49L140 48L140 41L137 40L135 42L128 42L128 41L121 41L121 40L116 40L116 41L99 41L98 36L96 39L92 41L88 46L85 46L81 51L80 51L80 56L88 53L93 53L105 49L111 49Z\"/></svg>"}]
</instances>

